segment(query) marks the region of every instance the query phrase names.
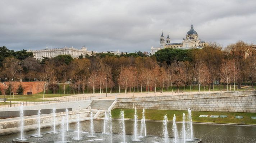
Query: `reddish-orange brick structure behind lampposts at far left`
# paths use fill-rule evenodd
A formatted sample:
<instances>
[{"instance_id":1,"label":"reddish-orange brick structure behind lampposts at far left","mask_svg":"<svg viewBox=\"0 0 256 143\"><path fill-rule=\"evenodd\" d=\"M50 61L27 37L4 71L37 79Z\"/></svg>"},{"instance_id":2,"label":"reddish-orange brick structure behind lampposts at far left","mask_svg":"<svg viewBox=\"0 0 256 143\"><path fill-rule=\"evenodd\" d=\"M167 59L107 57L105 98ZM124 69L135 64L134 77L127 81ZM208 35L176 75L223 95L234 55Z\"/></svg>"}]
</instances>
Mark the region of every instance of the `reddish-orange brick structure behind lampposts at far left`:
<instances>
[{"instance_id":1,"label":"reddish-orange brick structure behind lampposts at far left","mask_svg":"<svg viewBox=\"0 0 256 143\"><path fill-rule=\"evenodd\" d=\"M14 89L14 94L16 94L16 90L19 86L19 84L22 84L24 88L24 94L37 94L39 92L43 91L44 82L12 82L12 91ZM1 85L4 85L3 83ZM6 85L10 86L10 82L6 82ZM7 89L8 87L6 87ZM4 89L2 89L2 94L4 94Z\"/></svg>"}]
</instances>

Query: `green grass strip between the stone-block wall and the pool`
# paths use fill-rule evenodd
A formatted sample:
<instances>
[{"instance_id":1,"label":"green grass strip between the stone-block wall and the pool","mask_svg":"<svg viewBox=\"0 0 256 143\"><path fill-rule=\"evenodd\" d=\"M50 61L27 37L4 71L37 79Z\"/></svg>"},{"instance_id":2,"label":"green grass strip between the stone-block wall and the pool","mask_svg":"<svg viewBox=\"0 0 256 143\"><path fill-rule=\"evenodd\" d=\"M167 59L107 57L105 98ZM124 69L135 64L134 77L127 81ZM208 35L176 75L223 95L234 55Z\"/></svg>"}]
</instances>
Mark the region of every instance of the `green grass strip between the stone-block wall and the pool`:
<instances>
[{"instance_id":1,"label":"green grass strip between the stone-block wall and the pool","mask_svg":"<svg viewBox=\"0 0 256 143\"><path fill-rule=\"evenodd\" d=\"M120 111L124 110L124 118L133 119L134 109L114 109L111 111L113 118L120 118ZM178 110L145 110L145 118L150 120L163 120L167 114L168 120L173 119L175 114L177 121L182 121L182 114L187 115L187 111ZM142 118L142 109L137 109L138 118ZM207 118L199 117L200 115L209 115ZM227 115L227 118L209 118L210 115ZM242 115L243 119L236 119L236 115ZM192 111L193 122L212 122L212 123L245 123L256 124L256 119L251 119L251 116L256 116L256 113L237 113L237 112L200 112Z\"/></svg>"}]
</instances>

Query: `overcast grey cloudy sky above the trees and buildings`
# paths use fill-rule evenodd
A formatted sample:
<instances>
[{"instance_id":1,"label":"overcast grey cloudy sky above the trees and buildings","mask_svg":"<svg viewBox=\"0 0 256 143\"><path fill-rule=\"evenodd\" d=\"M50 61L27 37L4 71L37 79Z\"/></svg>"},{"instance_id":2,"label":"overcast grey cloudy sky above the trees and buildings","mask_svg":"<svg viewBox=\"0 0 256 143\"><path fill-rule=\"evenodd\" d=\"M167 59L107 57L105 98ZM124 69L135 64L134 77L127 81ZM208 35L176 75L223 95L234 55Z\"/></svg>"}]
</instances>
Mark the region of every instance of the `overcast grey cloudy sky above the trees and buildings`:
<instances>
[{"instance_id":1,"label":"overcast grey cloudy sky above the trees and buildings","mask_svg":"<svg viewBox=\"0 0 256 143\"><path fill-rule=\"evenodd\" d=\"M0 46L150 51L161 30L181 42L191 21L205 41L256 44L255 0L1 0Z\"/></svg>"}]
</instances>

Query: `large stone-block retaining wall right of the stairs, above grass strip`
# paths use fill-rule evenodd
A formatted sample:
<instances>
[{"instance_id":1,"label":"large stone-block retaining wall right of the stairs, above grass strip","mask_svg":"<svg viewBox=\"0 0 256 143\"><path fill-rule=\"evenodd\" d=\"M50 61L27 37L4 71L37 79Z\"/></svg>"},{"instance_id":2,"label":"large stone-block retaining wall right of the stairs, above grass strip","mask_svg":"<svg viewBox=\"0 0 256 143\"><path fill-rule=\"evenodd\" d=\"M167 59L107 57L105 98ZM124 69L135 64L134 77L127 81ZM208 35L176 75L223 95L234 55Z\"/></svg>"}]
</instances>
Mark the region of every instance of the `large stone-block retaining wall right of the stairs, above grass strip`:
<instances>
[{"instance_id":1,"label":"large stone-block retaining wall right of the stairs, above grass strip","mask_svg":"<svg viewBox=\"0 0 256 143\"><path fill-rule=\"evenodd\" d=\"M117 98L115 108L256 112L256 91Z\"/></svg>"}]
</instances>

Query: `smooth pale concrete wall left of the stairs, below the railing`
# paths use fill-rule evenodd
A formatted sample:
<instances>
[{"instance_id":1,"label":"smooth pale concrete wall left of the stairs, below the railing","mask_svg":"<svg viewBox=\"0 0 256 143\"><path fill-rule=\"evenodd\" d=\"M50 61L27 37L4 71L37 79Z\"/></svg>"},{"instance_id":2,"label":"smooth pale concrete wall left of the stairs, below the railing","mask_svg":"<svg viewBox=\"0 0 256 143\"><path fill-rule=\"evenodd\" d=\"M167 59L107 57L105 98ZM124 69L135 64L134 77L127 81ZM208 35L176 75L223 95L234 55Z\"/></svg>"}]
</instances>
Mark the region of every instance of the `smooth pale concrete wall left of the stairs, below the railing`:
<instances>
[{"instance_id":1,"label":"smooth pale concrete wall left of the stairs, below the railing","mask_svg":"<svg viewBox=\"0 0 256 143\"><path fill-rule=\"evenodd\" d=\"M24 106L23 110L39 110L39 109L63 109L63 108L72 108L72 110L78 110L79 105L81 105L81 109L86 109L89 104L91 104L92 100L84 100L84 101L74 101L74 102L59 102L59 103L49 103L49 104L40 104L40 105L31 105ZM9 107L9 108L1 108L2 111L19 111L20 107Z\"/></svg>"}]
</instances>

